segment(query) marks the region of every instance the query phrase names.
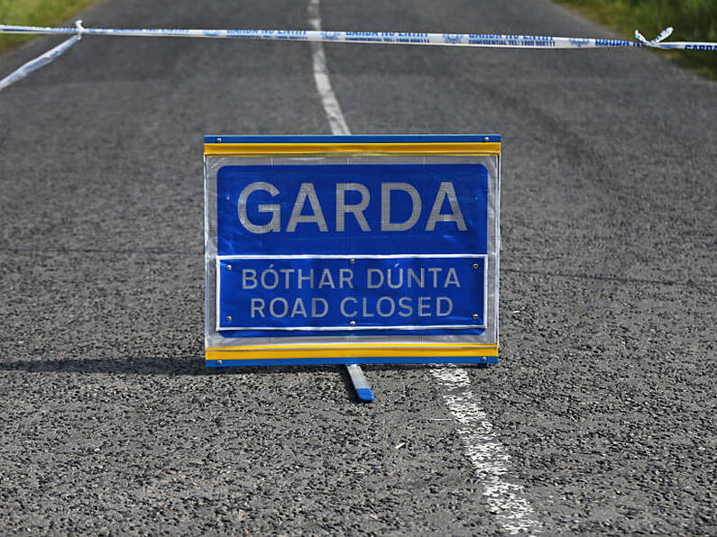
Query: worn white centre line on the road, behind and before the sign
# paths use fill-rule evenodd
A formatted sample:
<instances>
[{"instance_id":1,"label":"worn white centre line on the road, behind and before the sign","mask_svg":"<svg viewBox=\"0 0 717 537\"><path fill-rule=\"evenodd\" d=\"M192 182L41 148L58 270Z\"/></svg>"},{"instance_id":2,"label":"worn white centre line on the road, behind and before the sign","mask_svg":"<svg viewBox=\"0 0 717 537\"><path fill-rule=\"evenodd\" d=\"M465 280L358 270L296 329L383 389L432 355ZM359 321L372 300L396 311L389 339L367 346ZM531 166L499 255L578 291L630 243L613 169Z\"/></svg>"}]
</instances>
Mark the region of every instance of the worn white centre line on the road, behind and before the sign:
<instances>
[{"instance_id":1,"label":"worn white centre line on the road, behind and before the sign","mask_svg":"<svg viewBox=\"0 0 717 537\"><path fill-rule=\"evenodd\" d=\"M317 32L321 32L319 2L308 0L308 23ZM311 42L311 55L314 80L331 132L336 135L351 134L341 112L341 105L331 88L324 45L320 41ZM483 496L501 528L511 535L539 533L540 523L534 516L523 487L506 479L509 475L510 455L498 439L483 408L473 398L468 372L453 367L431 369L431 372L443 387L443 400L448 410L454 415L455 421L462 425L458 434L464 443L465 454L473 463L475 475L483 483Z\"/></svg>"}]
</instances>

